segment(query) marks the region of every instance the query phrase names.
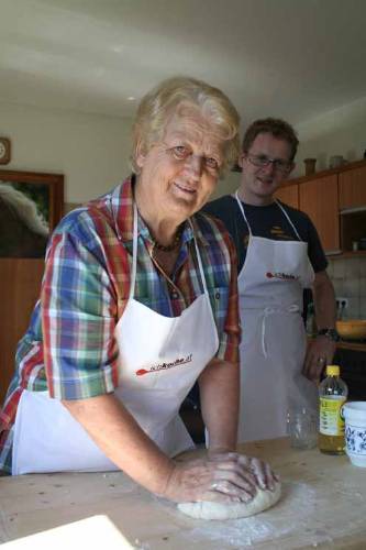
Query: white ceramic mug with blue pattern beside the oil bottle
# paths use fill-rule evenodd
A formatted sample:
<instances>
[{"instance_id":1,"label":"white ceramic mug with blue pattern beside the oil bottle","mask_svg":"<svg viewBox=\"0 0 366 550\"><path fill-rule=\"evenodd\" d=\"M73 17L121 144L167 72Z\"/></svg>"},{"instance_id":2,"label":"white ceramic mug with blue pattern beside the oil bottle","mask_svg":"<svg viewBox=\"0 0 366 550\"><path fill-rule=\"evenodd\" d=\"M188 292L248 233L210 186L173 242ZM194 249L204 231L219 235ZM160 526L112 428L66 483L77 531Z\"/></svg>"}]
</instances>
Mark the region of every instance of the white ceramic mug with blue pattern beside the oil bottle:
<instances>
[{"instance_id":1,"label":"white ceramic mug with blue pattern beside the oil bottle","mask_svg":"<svg viewBox=\"0 0 366 550\"><path fill-rule=\"evenodd\" d=\"M366 468L366 402L348 402L342 407L346 453L355 466Z\"/></svg>"}]
</instances>

